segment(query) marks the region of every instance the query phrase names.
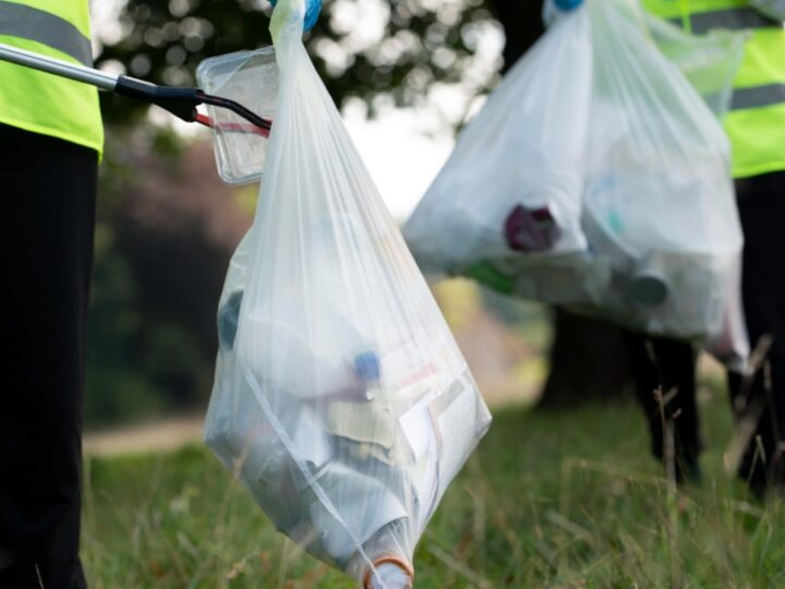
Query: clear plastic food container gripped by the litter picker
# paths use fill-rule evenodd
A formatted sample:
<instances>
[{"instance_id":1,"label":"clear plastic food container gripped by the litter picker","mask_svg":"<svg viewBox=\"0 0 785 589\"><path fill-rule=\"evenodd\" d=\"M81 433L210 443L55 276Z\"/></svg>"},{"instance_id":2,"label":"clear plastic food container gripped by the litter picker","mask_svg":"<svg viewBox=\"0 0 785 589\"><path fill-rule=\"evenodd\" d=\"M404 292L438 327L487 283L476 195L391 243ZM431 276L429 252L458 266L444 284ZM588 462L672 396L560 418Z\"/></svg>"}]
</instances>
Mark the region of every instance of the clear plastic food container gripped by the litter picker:
<instances>
[{"instance_id":1,"label":"clear plastic food container gripped by the litter picker","mask_svg":"<svg viewBox=\"0 0 785 589\"><path fill-rule=\"evenodd\" d=\"M273 47L206 59L196 80L207 94L235 100L259 117L273 118L278 96L278 65ZM258 182L267 156L267 139L229 109L207 106L218 175L229 184Z\"/></svg>"}]
</instances>

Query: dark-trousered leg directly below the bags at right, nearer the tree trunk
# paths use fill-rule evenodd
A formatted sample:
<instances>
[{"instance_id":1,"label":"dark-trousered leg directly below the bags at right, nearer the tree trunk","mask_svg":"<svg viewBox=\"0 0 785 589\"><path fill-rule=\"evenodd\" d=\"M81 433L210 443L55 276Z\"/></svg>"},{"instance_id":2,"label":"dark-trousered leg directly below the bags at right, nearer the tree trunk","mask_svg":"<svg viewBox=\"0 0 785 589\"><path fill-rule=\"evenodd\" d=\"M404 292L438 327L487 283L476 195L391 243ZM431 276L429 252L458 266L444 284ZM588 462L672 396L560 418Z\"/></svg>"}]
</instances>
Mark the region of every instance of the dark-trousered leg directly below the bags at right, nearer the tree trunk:
<instances>
[{"instance_id":1,"label":"dark-trousered leg directly below the bags at right, nearer the tree trunk","mask_svg":"<svg viewBox=\"0 0 785 589\"><path fill-rule=\"evenodd\" d=\"M696 353L675 339L625 332L636 394L647 417L652 454L666 459L665 432L673 429L676 478L698 479L701 450L696 405ZM656 392L662 392L662 399Z\"/></svg>"}]
</instances>

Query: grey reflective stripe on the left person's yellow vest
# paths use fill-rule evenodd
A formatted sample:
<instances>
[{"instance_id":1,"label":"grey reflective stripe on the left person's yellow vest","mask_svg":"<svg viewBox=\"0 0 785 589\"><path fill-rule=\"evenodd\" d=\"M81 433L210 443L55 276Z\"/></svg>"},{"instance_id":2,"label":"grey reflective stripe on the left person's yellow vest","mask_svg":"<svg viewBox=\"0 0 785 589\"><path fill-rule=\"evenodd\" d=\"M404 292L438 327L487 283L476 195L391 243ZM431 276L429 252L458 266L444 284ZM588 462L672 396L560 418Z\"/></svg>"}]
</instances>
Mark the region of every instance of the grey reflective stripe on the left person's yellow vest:
<instances>
[{"instance_id":1,"label":"grey reflective stripe on the left person's yellow vest","mask_svg":"<svg viewBox=\"0 0 785 589\"><path fill-rule=\"evenodd\" d=\"M67 20L43 10L0 0L0 35L41 43L93 65L89 39Z\"/></svg>"}]
</instances>

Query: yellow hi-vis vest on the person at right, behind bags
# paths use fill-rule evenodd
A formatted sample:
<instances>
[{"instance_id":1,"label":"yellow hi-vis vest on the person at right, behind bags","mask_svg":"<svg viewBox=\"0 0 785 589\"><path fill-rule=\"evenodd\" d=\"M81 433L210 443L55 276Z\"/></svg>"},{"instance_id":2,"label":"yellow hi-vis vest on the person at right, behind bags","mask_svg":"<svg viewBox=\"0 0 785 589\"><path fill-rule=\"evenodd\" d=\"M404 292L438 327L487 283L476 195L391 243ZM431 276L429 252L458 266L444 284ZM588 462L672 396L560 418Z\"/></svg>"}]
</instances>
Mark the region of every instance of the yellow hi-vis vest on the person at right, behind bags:
<instances>
[{"instance_id":1,"label":"yellow hi-vis vest on the person at right, behind bags","mask_svg":"<svg viewBox=\"0 0 785 589\"><path fill-rule=\"evenodd\" d=\"M695 34L749 31L730 110L723 123L735 178L785 170L785 28L748 0L642 0L656 16Z\"/></svg>"}]
</instances>

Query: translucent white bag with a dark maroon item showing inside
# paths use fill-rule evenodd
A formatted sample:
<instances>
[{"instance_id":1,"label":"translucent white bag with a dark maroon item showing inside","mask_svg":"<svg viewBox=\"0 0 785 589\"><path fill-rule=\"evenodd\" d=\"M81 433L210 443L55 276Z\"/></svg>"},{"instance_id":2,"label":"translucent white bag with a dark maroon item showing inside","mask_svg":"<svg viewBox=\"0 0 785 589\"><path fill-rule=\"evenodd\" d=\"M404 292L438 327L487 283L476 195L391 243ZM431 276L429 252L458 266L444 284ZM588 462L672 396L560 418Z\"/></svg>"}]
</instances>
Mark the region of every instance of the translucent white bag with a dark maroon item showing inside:
<instances>
[{"instance_id":1,"label":"translucent white bag with a dark maroon item showing inside","mask_svg":"<svg viewBox=\"0 0 785 589\"><path fill-rule=\"evenodd\" d=\"M588 247L580 217L591 44L585 15L564 24L488 97L407 223L403 235L427 275L482 273L493 260L522 276L509 289L523 297L585 299L591 285L560 275ZM578 291L552 288L553 280Z\"/></svg>"}]
</instances>

